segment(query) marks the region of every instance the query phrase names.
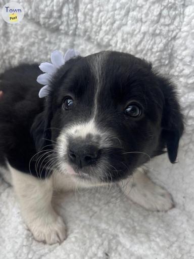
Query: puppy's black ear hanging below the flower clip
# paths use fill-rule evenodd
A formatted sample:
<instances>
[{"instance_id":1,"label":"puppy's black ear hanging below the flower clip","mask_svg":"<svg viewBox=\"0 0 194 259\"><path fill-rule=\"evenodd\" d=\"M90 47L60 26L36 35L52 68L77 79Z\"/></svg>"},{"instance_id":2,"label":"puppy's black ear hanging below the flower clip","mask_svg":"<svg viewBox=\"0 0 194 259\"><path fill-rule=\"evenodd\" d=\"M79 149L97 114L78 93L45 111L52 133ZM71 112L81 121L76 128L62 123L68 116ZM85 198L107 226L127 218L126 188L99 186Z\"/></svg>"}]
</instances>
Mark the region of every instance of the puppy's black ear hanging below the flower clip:
<instances>
[{"instance_id":1,"label":"puppy's black ear hanging below the flower clip","mask_svg":"<svg viewBox=\"0 0 194 259\"><path fill-rule=\"evenodd\" d=\"M36 150L43 149L46 145L51 144L50 121L52 119L51 112L46 108L39 113L31 126L31 135L34 139Z\"/></svg>"}]
</instances>

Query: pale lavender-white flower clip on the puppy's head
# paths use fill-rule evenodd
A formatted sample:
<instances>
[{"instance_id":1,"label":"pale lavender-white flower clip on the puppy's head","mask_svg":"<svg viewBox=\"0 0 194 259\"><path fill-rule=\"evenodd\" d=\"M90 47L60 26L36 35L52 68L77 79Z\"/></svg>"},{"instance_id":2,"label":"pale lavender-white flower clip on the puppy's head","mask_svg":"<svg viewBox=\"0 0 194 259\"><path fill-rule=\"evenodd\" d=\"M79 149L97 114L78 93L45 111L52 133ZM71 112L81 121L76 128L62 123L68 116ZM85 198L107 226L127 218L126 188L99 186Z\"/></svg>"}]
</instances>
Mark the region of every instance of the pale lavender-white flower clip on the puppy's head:
<instances>
[{"instance_id":1,"label":"pale lavender-white flower clip on the puppy's head","mask_svg":"<svg viewBox=\"0 0 194 259\"><path fill-rule=\"evenodd\" d=\"M40 84L44 84L44 87L39 91L39 98L46 97L50 92L49 82L52 78L52 75L57 71L59 67L64 65L68 60L73 57L79 56L79 52L69 49L65 56L60 51L54 51L51 53L51 62L44 62L39 65L39 68L44 74L41 74L37 77L36 81Z\"/></svg>"}]
</instances>

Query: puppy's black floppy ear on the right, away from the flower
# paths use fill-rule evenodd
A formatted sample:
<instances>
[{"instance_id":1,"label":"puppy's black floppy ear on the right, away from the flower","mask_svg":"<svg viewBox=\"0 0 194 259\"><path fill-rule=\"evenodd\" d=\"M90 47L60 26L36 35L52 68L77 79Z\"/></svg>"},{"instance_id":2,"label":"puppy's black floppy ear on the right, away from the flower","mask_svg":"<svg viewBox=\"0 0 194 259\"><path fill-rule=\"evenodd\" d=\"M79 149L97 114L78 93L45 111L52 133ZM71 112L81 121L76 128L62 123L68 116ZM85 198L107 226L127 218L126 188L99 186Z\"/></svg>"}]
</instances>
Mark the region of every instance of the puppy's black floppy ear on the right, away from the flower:
<instances>
[{"instance_id":1,"label":"puppy's black floppy ear on the right, away from the flower","mask_svg":"<svg viewBox=\"0 0 194 259\"><path fill-rule=\"evenodd\" d=\"M165 78L160 78L160 82L165 99L162 117L162 139L165 141L169 160L174 163L177 157L179 139L184 130L183 115L177 100L175 85Z\"/></svg>"}]
</instances>

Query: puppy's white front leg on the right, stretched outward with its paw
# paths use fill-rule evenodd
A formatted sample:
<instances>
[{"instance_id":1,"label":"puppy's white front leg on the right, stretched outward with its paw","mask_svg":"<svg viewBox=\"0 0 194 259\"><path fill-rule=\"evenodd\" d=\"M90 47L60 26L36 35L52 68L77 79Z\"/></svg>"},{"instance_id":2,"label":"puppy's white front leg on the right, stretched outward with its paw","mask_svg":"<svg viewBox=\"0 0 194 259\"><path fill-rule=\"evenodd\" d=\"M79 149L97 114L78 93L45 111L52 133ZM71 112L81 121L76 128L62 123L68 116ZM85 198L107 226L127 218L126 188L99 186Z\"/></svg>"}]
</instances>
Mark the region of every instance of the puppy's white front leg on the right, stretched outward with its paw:
<instances>
[{"instance_id":1,"label":"puppy's white front leg on the right, stretched outward with its paw","mask_svg":"<svg viewBox=\"0 0 194 259\"><path fill-rule=\"evenodd\" d=\"M119 185L130 200L148 210L166 211L174 206L171 195L154 184L142 168L135 172L133 178L119 182Z\"/></svg>"}]
</instances>

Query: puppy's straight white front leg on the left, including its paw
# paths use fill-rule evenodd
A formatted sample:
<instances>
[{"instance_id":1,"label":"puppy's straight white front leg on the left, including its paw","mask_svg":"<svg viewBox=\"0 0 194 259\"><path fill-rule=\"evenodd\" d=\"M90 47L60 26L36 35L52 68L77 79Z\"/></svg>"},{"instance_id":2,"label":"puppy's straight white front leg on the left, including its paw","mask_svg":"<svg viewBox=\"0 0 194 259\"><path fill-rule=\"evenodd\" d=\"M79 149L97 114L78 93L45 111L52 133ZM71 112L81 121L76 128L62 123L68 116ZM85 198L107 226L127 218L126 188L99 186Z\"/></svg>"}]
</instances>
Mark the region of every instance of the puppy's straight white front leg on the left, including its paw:
<instances>
[{"instance_id":1,"label":"puppy's straight white front leg on the left, including its paw","mask_svg":"<svg viewBox=\"0 0 194 259\"><path fill-rule=\"evenodd\" d=\"M54 211L52 179L40 180L9 166L24 220L37 241L54 244L66 237L62 218Z\"/></svg>"}]
</instances>

